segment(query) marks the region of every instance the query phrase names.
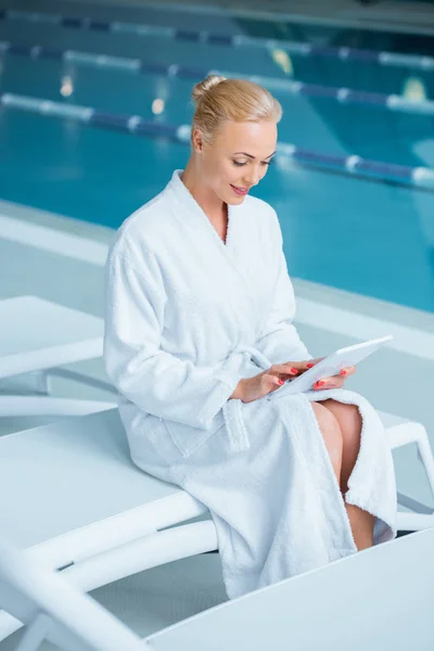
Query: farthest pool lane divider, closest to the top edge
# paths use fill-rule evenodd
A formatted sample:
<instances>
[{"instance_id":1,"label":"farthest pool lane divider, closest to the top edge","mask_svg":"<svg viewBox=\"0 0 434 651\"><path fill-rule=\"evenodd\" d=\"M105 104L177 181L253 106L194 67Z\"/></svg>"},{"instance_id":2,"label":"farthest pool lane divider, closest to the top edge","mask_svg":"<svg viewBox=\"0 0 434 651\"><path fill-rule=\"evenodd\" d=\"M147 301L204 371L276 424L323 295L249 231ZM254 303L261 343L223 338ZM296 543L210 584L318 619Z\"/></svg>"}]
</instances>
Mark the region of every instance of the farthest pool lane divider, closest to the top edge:
<instances>
[{"instance_id":1,"label":"farthest pool lane divider, closest to the top edge","mask_svg":"<svg viewBox=\"0 0 434 651\"><path fill-rule=\"evenodd\" d=\"M60 14L22 11L0 10L0 20L17 20L35 23L48 23L61 27L86 29L92 31L111 31L118 34L132 34L135 36L158 36L179 41L206 43L209 46L227 46L229 48L263 48L267 50L285 50L294 56L322 56L340 61L361 61L376 63L383 66L399 66L422 71L434 69L434 56L420 54L405 54L399 52L376 52L359 48L334 48L331 46L315 46L307 42L269 39L256 36L214 34L204 30L177 29L159 25L140 23L124 23L118 21L95 21L91 17L67 17Z\"/></svg>"}]
</instances>

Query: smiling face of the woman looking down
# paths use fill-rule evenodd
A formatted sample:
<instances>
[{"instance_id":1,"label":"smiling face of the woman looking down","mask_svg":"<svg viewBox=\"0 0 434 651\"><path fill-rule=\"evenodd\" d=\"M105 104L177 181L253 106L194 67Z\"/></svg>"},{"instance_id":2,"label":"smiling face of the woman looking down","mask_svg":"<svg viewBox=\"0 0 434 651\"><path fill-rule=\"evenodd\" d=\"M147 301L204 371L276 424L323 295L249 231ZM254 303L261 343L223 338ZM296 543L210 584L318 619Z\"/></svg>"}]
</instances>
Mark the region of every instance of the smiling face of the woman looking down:
<instances>
[{"instance_id":1,"label":"smiling face of the woman looking down","mask_svg":"<svg viewBox=\"0 0 434 651\"><path fill-rule=\"evenodd\" d=\"M228 122L209 144L194 132L202 182L227 204L243 203L248 190L267 174L277 137L273 122Z\"/></svg>"}]
</instances>

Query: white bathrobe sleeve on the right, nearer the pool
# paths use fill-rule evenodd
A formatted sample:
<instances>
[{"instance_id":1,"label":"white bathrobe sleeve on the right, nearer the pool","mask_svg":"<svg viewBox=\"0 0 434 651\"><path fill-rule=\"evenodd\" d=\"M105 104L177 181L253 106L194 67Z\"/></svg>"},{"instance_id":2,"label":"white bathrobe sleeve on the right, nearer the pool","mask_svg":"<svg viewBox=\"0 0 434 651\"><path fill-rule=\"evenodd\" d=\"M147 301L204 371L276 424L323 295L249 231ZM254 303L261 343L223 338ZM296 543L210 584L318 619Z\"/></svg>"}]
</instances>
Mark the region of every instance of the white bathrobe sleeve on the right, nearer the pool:
<instances>
[{"instance_id":1,"label":"white bathrobe sleeve on the right, nearer the pool","mask_svg":"<svg viewBox=\"0 0 434 651\"><path fill-rule=\"evenodd\" d=\"M288 273L282 231L275 210L272 210L271 226L270 233L275 242L275 259L277 260L276 282L272 290L271 307L255 346L272 363L304 361L305 359L311 359L311 355L307 352L293 324L295 317L294 288Z\"/></svg>"}]
</instances>

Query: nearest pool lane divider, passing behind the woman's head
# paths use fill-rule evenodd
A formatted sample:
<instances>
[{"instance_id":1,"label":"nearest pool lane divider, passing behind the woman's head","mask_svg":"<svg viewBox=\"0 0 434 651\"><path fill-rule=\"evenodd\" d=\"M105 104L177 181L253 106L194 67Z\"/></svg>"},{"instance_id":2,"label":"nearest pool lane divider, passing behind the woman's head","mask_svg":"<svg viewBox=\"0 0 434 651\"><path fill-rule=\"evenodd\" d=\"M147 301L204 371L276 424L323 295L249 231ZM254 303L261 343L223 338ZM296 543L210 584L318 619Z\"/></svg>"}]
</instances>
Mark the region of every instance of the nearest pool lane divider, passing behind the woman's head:
<instances>
[{"instance_id":1,"label":"nearest pool lane divider, passing behind the woman's head","mask_svg":"<svg viewBox=\"0 0 434 651\"><path fill-rule=\"evenodd\" d=\"M146 120L139 115L119 115L103 113L91 106L52 102L11 93L0 94L0 104L4 108L15 108L27 113L37 113L50 117L60 117L82 125L120 130L136 136L164 137L182 144L190 143L190 125L167 125ZM285 169L289 163L326 170L337 170L348 176L395 182L412 188L434 191L434 169L430 167L410 167L381 161L371 161L357 155L329 154L292 143L279 142L277 162Z\"/></svg>"}]
</instances>

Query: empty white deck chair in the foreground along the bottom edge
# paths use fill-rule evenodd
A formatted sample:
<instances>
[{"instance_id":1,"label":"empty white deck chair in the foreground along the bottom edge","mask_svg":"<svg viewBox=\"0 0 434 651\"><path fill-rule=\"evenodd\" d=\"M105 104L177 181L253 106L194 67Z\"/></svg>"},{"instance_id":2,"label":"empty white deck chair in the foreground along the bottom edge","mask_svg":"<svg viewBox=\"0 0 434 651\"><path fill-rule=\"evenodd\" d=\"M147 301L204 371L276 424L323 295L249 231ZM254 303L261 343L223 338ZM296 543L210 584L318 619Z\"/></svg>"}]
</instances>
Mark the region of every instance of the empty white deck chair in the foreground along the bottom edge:
<instances>
[{"instance_id":1,"label":"empty white deck chair in the foreground along the bottom edge","mask_svg":"<svg viewBox=\"0 0 434 651\"><path fill-rule=\"evenodd\" d=\"M0 607L64 651L432 651L434 528L214 607L144 640L51 569L0 544Z\"/></svg>"}]
</instances>

